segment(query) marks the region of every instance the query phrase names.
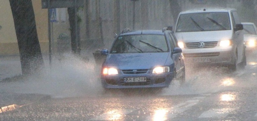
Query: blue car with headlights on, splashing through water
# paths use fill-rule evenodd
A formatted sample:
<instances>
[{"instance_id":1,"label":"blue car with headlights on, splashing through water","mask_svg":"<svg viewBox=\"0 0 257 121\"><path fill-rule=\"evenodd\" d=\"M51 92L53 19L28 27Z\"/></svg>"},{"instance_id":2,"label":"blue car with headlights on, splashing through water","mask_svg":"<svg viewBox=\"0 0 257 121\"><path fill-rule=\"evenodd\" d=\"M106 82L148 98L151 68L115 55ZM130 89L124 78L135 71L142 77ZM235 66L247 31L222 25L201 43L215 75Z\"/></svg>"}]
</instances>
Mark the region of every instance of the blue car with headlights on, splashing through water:
<instances>
[{"instance_id":1,"label":"blue car with headlights on, splashing through water","mask_svg":"<svg viewBox=\"0 0 257 121\"><path fill-rule=\"evenodd\" d=\"M173 32L124 29L107 55L101 82L108 88L164 88L172 80L185 82L185 64Z\"/></svg>"}]
</instances>

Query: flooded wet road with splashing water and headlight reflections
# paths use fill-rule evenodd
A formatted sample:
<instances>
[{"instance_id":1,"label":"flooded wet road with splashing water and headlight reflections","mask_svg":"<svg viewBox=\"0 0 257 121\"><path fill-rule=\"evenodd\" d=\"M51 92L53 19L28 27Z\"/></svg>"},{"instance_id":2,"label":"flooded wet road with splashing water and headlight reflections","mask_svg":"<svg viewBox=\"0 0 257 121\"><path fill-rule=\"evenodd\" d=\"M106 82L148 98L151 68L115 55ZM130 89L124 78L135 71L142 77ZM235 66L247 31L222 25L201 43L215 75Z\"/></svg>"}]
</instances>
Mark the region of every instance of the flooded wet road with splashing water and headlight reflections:
<instances>
[{"instance_id":1,"label":"flooded wet road with splashing water and headlight reflections","mask_svg":"<svg viewBox=\"0 0 257 121\"><path fill-rule=\"evenodd\" d=\"M0 120L257 120L256 55L236 72L188 66L182 86L108 92L93 62L68 56L45 75L0 82Z\"/></svg>"}]
</instances>

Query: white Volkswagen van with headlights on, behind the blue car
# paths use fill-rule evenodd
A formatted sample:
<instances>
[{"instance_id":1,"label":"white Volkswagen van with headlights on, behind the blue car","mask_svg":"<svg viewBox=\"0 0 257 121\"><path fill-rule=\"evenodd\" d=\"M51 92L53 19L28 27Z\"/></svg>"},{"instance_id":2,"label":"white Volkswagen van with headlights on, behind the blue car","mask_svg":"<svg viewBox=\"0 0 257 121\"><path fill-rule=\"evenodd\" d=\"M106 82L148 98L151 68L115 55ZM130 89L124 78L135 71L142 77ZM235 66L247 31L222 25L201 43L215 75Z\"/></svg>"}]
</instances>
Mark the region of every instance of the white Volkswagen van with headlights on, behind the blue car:
<instances>
[{"instance_id":1,"label":"white Volkswagen van with headlights on, behind the blue car","mask_svg":"<svg viewBox=\"0 0 257 121\"><path fill-rule=\"evenodd\" d=\"M245 67L243 25L233 8L182 11L175 36L187 62Z\"/></svg>"}]
</instances>

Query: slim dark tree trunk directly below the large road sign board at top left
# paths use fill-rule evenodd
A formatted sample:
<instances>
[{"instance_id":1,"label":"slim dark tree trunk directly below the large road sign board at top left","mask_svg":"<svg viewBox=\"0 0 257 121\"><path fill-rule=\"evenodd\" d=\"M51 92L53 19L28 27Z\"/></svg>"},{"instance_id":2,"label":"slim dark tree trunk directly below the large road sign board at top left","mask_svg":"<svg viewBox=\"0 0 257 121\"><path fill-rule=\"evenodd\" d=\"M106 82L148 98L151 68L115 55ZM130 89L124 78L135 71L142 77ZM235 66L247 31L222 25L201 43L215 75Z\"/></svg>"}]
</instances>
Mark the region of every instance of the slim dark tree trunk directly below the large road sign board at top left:
<instances>
[{"instance_id":1,"label":"slim dark tree trunk directly below the large road sign board at top left","mask_svg":"<svg viewBox=\"0 0 257 121\"><path fill-rule=\"evenodd\" d=\"M68 14L69 14L69 23L70 23L70 31L71 31L71 51L73 54L80 54L80 27L78 24L77 32L78 32L78 38L76 40L76 19L75 17L78 17L75 15L75 8L68 8Z\"/></svg>"}]
</instances>

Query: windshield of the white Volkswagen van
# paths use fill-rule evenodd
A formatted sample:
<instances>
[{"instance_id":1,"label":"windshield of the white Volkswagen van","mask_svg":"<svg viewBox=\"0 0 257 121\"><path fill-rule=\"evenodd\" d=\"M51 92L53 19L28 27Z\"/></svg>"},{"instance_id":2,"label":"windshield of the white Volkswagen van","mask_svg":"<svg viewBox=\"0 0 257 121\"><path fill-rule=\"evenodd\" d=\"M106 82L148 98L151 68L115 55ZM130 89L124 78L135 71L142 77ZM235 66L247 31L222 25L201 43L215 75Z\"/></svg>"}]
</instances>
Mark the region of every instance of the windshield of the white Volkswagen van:
<instances>
[{"instance_id":1,"label":"windshield of the white Volkswagen van","mask_svg":"<svg viewBox=\"0 0 257 121\"><path fill-rule=\"evenodd\" d=\"M228 12L180 14L176 32L231 30Z\"/></svg>"}]
</instances>

